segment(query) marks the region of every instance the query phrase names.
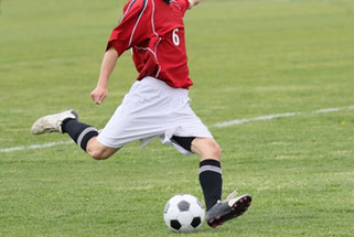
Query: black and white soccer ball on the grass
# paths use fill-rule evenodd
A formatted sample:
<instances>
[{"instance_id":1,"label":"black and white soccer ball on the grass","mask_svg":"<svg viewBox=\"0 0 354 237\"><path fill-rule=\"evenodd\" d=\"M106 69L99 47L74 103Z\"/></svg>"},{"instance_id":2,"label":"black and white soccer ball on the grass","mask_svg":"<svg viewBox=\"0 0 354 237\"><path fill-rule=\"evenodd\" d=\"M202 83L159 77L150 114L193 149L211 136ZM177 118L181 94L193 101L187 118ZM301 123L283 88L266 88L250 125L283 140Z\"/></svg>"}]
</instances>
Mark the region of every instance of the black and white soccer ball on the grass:
<instances>
[{"instance_id":1,"label":"black and white soccer ball on the grass","mask_svg":"<svg viewBox=\"0 0 354 237\"><path fill-rule=\"evenodd\" d=\"M175 233L196 231L203 225L203 204L190 194L176 194L164 206L165 225Z\"/></svg>"}]
</instances>

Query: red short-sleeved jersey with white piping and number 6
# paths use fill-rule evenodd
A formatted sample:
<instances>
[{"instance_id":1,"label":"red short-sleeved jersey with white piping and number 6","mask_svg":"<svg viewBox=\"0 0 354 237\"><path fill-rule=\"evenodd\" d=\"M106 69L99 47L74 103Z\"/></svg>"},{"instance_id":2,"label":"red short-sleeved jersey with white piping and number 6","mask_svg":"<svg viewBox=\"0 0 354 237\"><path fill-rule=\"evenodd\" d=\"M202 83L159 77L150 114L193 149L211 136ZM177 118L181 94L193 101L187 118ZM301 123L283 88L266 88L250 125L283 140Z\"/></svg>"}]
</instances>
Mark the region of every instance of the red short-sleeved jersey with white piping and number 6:
<instances>
[{"instance_id":1,"label":"red short-sleeved jersey with white piping and number 6","mask_svg":"<svg viewBox=\"0 0 354 237\"><path fill-rule=\"evenodd\" d=\"M114 29L107 49L120 56L132 49L132 60L142 79L151 76L171 87L189 88L183 17L189 0L129 0L120 23Z\"/></svg>"}]
</instances>

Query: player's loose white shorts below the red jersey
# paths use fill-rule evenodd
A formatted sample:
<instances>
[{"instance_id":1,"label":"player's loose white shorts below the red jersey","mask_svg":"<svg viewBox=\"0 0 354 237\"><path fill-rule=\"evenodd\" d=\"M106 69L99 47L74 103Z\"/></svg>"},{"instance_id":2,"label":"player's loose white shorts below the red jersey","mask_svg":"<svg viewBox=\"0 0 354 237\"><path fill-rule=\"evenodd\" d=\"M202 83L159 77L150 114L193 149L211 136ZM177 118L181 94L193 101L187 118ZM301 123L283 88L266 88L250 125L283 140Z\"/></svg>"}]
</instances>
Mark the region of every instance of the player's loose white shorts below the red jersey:
<instances>
[{"instance_id":1,"label":"player's loose white shorts below the red jersey","mask_svg":"<svg viewBox=\"0 0 354 237\"><path fill-rule=\"evenodd\" d=\"M172 88L162 80L146 77L137 80L97 140L109 148L121 148L140 140L141 147L152 139L173 144L181 153L191 152L171 141L172 136L213 138L190 107L189 90Z\"/></svg>"}]
</instances>

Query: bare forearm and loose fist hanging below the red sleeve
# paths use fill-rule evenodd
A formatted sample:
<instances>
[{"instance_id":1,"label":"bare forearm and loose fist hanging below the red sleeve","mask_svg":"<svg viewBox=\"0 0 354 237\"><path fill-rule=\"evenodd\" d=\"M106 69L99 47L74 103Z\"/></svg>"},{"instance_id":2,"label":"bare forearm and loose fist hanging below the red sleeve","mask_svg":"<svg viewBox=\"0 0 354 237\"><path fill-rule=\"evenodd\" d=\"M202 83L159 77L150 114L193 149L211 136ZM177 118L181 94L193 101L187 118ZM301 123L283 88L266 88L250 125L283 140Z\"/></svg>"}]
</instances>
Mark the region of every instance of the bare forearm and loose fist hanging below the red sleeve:
<instances>
[{"instance_id":1,"label":"bare forearm and loose fist hanging below the red sleeve","mask_svg":"<svg viewBox=\"0 0 354 237\"><path fill-rule=\"evenodd\" d=\"M109 76L115 69L118 60L118 53L114 47L110 47L104 56L100 73L97 82L97 87L92 91L90 97L96 105L100 105L108 96Z\"/></svg>"}]
</instances>

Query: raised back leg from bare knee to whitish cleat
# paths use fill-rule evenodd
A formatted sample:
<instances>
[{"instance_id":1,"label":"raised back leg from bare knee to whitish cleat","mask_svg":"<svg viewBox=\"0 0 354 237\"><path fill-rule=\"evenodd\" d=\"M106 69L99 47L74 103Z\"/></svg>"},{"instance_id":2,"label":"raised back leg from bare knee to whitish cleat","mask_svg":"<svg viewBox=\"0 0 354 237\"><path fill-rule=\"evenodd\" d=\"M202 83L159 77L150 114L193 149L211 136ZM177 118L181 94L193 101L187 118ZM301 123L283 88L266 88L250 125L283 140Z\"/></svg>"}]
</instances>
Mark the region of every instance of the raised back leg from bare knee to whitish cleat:
<instances>
[{"instance_id":1,"label":"raised back leg from bare knee to whitish cleat","mask_svg":"<svg viewBox=\"0 0 354 237\"><path fill-rule=\"evenodd\" d=\"M87 154L96 160L105 160L119 150L119 148L108 148L99 143L97 129L77 119L78 115L73 109L44 116L33 123L31 131L33 134L67 133Z\"/></svg>"}]
</instances>

